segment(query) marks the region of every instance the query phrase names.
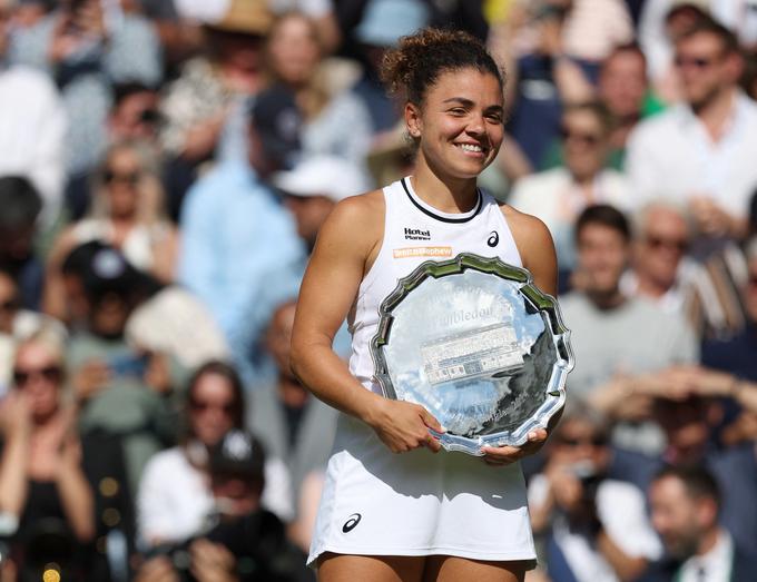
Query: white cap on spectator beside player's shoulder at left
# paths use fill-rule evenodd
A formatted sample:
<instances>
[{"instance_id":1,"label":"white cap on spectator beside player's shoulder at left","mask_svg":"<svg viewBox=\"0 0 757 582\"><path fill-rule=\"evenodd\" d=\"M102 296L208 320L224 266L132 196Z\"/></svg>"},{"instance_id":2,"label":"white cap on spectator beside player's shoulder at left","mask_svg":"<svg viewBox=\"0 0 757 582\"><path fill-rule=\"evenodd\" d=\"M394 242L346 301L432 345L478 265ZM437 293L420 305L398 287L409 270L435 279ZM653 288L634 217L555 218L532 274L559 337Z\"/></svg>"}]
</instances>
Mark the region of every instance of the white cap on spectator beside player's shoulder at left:
<instances>
[{"instance_id":1,"label":"white cap on spectator beside player's shoulder at left","mask_svg":"<svg viewBox=\"0 0 757 582\"><path fill-rule=\"evenodd\" d=\"M278 172L274 185L292 196L325 196L335 203L370 188L354 164L335 156L303 158L293 169Z\"/></svg>"}]
</instances>

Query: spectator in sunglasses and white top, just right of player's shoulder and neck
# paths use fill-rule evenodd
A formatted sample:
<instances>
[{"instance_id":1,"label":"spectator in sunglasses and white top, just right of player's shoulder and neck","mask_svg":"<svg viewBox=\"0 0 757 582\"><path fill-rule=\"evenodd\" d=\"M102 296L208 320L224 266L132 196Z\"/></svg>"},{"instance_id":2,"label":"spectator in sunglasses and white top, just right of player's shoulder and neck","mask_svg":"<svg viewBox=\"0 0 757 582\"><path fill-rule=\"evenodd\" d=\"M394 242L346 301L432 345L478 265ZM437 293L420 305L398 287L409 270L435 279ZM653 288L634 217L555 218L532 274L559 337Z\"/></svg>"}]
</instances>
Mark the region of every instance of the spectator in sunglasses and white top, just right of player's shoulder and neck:
<instances>
[{"instance_id":1,"label":"spectator in sunglasses and white top, just right of player's shoulder and neck","mask_svg":"<svg viewBox=\"0 0 757 582\"><path fill-rule=\"evenodd\" d=\"M519 210L541 218L550 229L561 272L576 266L573 225L592 204L632 205L626 178L604 167L611 119L598 102L569 106L562 116L564 167L521 178L509 201Z\"/></svg>"}]
</instances>

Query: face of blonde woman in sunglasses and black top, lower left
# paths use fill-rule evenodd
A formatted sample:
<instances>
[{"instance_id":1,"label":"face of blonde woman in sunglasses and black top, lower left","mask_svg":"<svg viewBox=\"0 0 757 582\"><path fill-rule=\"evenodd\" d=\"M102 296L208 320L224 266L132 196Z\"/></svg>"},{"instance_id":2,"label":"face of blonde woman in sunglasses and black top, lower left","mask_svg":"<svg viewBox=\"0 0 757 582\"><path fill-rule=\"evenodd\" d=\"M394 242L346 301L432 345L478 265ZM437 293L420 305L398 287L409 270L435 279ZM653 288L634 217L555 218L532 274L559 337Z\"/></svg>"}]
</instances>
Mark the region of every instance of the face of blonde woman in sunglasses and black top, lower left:
<instances>
[{"instance_id":1,"label":"face of blonde woman in sunglasses and black top, lower left","mask_svg":"<svg viewBox=\"0 0 757 582\"><path fill-rule=\"evenodd\" d=\"M35 421L45 421L58 410L62 374L60 361L45 344L24 344L16 355L13 385L28 395Z\"/></svg>"}]
</instances>

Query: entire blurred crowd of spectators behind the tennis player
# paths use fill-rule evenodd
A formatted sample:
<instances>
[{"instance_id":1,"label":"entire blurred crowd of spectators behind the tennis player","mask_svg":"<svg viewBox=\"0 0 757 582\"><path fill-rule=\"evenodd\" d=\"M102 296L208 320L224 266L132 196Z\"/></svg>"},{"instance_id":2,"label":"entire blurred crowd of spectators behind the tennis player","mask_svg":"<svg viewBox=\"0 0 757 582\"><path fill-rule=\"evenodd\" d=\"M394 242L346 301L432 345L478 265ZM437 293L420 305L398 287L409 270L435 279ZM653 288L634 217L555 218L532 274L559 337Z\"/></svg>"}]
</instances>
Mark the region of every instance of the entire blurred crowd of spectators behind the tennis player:
<instances>
[{"instance_id":1,"label":"entire blurred crowd of spectators behind the tennis player","mask_svg":"<svg viewBox=\"0 0 757 582\"><path fill-rule=\"evenodd\" d=\"M504 67L481 184L558 250L529 580L757 578L757 1L0 0L0 581L313 580L297 290L412 174L377 71L424 26Z\"/></svg>"}]
</instances>

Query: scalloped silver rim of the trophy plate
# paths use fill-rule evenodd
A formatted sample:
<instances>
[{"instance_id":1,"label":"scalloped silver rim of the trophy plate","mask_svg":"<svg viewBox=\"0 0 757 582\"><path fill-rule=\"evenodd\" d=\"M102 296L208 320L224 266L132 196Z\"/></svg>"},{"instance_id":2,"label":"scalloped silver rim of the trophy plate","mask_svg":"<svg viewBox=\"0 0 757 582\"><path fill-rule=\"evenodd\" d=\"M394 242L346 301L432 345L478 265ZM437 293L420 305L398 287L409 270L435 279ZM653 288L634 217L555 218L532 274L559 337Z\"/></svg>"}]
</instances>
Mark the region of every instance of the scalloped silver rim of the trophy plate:
<instances>
[{"instance_id":1,"label":"scalloped silver rim of the trophy plate","mask_svg":"<svg viewBox=\"0 0 757 582\"><path fill-rule=\"evenodd\" d=\"M551 327L550 331L558 354L558 359L552 367L552 375L544 387L548 397L537 413L514 431L503 431L475 438L431 431L445 450L482 456L482 446L521 446L528 441L529 432L535 428L547 428L552 416L564 406L567 376L576 365L573 349L570 344L570 329L564 325L558 300L534 285L533 277L528 269L504 263L498 257L482 257L474 253L460 253L448 260L426 260L420 264L412 273L402 277L394 290L381 303L378 308L378 328L371 341L371 355L374 365L374 378L378 382L384 397L397 399L382 351L383 346L390 341L392 322L394 319L393 310L413 289L417 288L429 277L438 279L452 275L461 275L468 269L495 275L502 279L519 284L518 292L537 310L547 314L545 319Z\"/></svg>"}]
</instances>

